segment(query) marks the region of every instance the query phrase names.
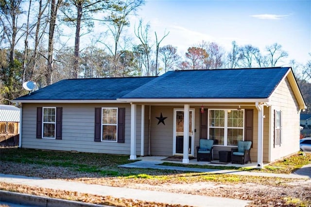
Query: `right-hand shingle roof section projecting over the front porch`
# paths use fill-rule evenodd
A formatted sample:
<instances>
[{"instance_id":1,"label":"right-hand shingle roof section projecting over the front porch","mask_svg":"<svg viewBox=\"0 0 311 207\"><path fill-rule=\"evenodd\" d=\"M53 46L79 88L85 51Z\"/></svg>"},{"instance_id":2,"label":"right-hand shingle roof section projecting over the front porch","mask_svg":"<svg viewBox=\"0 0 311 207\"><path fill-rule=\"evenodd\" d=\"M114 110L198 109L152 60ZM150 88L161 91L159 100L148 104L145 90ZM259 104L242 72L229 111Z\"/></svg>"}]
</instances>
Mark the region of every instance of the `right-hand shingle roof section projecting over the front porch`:
<instances>
[{"instance_id":1,"label":"right-hand shingle roof section projecting over the front porch","mask_svg":"<svg viewBox=\"0 0 311 207\"><path fill-rule=\"evenodd\" d=\"M172 71L122 98L267 98L289 69Z\"/></svg>"}]
</instances>

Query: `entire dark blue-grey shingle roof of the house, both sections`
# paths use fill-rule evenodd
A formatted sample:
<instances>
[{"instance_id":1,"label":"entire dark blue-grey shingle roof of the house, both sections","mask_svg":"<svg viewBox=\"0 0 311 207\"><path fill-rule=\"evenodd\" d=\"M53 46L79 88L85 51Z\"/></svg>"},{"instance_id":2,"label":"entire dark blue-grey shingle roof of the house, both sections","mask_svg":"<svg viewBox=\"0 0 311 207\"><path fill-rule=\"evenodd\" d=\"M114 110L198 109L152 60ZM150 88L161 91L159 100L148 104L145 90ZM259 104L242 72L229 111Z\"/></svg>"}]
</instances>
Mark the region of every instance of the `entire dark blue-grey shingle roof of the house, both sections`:
<instances>
[{"instance_id":1,"label":"entire dark blue-grey shingle roof of the house, both sections","mask_svg":"<svg viewBox=\"0 0 311 207\"><path fill-rule=\"evenodd\" d=\"M66 79L15 100L267 98L289 69L190 70L159 77Z\"/></svg>"}]
</instances>

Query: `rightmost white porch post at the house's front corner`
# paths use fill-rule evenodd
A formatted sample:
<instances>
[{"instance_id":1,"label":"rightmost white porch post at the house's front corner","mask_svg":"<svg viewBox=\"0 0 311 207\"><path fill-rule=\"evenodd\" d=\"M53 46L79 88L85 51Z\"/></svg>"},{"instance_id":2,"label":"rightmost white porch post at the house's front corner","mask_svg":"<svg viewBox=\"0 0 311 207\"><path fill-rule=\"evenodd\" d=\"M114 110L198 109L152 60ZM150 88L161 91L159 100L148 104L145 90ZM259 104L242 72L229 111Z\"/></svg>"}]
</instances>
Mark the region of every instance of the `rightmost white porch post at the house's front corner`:
<instances>
[{"instance_id":1,"label":"rightmost white porch post at the house's front corner","mask_svg":"<svg viewBox=\"0 0 311 207\"><path fill-rule=\"evenodd\" d=\"M258 110L258 149L257 149L257 168L263 168L262 154L263 154L263 104L256 102Z\"/></svg>"}]
</instances>

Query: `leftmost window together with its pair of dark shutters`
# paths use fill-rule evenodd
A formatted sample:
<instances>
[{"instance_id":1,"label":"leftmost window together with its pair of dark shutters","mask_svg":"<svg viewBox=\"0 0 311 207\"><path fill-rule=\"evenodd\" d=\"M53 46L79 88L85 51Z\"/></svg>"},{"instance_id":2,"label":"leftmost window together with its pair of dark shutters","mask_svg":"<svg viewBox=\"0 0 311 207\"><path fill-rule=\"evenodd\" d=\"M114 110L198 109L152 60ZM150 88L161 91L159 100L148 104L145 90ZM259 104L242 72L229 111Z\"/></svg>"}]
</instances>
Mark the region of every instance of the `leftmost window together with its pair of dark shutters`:
<instances>
[{"instance_id":1,"label":"leftmost window together with its pair of dark shutters","mask_svg":"<svg viewBox=\"0 0 311 207\"><path fill-rule=\"evenodd\" d=\"M36 138L62 139L62 107L37 107Z\"/></svg>"}]
</instances>

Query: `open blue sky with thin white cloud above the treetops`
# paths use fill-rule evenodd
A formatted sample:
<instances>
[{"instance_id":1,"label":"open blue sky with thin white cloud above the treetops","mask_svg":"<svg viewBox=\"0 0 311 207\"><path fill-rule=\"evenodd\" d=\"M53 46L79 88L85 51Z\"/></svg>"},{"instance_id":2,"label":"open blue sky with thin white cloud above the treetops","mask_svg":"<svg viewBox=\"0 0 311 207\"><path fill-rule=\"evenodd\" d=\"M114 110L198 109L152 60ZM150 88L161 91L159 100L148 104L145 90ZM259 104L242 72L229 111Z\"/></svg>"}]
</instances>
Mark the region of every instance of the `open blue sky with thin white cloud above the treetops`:
<instances>
[{"instance_id":1,"label":"open blue sky with thin white cloud above the treetops","mask_svg":"<svg viewBox=\"0 0 311 207\"><path fill-rule=\"evenodd\" d=\"M235 40L260 51L276 42L288 60L310 59L311 0L146 0L136 24L140 18L150 23L151 35L170 32L160 46L172 44L181 54L202 40L225 50Z\"/></svg>"}]
</instances>

